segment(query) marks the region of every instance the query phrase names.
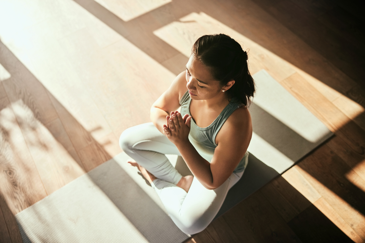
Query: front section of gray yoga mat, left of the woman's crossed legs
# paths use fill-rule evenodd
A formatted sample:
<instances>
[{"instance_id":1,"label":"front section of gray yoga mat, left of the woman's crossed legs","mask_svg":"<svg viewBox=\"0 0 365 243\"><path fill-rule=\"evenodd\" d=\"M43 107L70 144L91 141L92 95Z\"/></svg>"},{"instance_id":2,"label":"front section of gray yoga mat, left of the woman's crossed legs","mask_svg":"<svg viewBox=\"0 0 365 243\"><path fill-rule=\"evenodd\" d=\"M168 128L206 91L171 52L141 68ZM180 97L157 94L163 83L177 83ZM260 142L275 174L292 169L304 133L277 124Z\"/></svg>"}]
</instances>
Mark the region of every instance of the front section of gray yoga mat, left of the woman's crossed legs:
<instances>
[{"instance_id":1,"label":"front section of gray yoga mat, left of the woman's crossed legs","mask_svg":"<svg viewBox=\"0 0 365 243\"><path fill-rule=\"evenodd\" d=\"M120 153L15 215L24 243L183 242L154 189Z\"/></svg>"}]
</instances>

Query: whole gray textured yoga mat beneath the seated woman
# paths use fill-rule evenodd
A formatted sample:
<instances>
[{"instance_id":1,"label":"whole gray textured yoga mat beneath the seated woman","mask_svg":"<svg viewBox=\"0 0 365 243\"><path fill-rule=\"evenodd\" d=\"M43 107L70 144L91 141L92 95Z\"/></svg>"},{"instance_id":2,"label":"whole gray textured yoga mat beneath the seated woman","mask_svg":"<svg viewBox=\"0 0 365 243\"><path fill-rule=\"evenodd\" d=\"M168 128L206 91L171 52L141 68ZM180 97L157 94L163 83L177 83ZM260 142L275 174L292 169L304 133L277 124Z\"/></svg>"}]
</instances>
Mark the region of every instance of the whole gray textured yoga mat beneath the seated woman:
<instances>
[{"instance_id":1,"label":"whole gray textured yoga mat beneath the seated woman","mask_svg":"<svg viewBox=\"0 0 365 243\"><path fill-rule=\"evenodd\" d=\"M249 163L217 216L248 197L333 136L270 75L253 75ZM183 174L181 157L167 155ZM27 242L184 242L154 190L120 153L15 215Z\"/></svg>"}]
</instances>

